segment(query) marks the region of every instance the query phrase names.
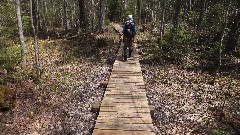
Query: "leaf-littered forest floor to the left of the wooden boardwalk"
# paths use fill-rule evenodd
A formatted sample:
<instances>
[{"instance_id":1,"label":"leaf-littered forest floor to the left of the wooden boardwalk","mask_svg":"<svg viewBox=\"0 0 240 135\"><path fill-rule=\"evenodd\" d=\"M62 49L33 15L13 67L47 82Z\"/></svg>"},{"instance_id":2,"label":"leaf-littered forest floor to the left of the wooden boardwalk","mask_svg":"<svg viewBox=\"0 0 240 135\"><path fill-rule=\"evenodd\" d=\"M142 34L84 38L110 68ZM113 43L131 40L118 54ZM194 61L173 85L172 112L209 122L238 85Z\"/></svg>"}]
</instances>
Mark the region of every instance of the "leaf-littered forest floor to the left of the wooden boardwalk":
<instances>
[{"instance_id":1,"label":"leaf-littered forest floor to the left of the wooden boardwalk","mask_svg":"<svg viewBox=\"0 0 240 135\"><path fill-rule=\"evenodd\" d=\"M96 119L91 106L103 97L99 82L110 76L108 69L119 47L112 26L94 36L92 44L39 41L41 82L33 81L34 55L29 54L27 72L16 73L22 78L9 84L17 100L13 110L0 113L1 134L91 134Z\"/></svg>"}]
</instances>

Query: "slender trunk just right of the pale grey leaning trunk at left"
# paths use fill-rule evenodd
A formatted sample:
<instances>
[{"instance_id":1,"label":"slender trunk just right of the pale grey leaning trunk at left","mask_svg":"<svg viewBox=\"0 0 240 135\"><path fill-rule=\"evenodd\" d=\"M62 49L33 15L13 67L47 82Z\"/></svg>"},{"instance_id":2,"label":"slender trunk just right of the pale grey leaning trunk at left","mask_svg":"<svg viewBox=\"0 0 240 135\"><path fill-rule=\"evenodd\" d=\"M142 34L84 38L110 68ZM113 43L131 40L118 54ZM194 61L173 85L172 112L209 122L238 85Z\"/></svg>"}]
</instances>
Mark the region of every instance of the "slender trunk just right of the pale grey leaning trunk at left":
<instances>
[{"instance_id":1,"label":"slender trunk just right of the pale grey leaning trunk at left","mask_svg":"<svg viewBox=\"0 0 240 135\"><path fill-rule=\"evenodd\" d=\"M35 67L36 67L36 75L37 79L40 77L40 66L39 66L39 54L38 54L38 18L37 18L37 0L30 0L31 5L31 24L33 29L34 36L34 53L35 53Z\"/></svg>"}]
</instances>

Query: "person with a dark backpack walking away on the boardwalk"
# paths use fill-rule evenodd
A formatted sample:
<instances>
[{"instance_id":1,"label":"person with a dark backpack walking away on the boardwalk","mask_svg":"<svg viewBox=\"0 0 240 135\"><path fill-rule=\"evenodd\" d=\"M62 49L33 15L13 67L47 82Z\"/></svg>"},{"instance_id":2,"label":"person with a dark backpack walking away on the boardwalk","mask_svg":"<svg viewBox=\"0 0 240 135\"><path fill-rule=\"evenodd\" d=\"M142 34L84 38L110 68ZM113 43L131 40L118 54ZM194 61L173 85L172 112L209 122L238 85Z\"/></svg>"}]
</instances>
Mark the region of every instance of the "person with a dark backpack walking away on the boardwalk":
<instances>
[{"instance_id":1,"label":"person with a dark backpack walking away on the boardwalk","mask_svg":"<svg viewBox=\"0 0 240 135\"><path fill-rule=\"evenodd\" d=\"M123 25L123 57L124 60L127 60L127 57L131 57L133 48L132 44L134 41L134 36L136 35L136 26L133 22L133 17L132 15L128 15L126 22ZM129 56L127 56L127 48L129 49Z\"/></svg>"}]
</instances>

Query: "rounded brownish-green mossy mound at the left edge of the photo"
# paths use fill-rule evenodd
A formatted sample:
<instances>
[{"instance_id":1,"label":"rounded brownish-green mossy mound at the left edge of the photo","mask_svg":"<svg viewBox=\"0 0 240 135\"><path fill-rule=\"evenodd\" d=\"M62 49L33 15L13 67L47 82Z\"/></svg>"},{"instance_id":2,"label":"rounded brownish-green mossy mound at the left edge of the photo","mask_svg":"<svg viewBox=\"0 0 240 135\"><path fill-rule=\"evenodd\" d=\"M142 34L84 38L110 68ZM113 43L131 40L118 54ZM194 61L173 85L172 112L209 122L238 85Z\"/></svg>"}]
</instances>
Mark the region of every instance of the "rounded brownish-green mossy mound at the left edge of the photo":
<instances>
[{"instance_id":1,"label":"rounded brownish-green mossy mound at the left edge of the photo","mask_svg":"<svg viewBox=\"0 0 240 135\"><path fill-rule=\"evenodd\" d=\"M0 85L0 111L11 109L15 99L15 92L12 88Z\"/></svg>"}]
</instances>

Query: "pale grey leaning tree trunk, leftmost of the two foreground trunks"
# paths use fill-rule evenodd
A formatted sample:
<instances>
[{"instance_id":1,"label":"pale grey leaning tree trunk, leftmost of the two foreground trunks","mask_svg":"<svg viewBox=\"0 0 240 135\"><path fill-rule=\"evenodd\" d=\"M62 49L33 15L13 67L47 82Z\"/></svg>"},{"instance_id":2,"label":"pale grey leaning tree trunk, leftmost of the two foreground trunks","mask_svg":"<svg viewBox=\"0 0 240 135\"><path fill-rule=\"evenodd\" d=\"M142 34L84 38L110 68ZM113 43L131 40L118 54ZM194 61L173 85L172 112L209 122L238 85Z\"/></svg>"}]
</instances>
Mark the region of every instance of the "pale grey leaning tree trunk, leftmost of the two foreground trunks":
<instances>
[{"instance_id":1,"label":"pale grey leaning tree trunk, leftmost of the two foreground trunks","mask_svg":"<svg viewBox=\"0 0 240 135\"><path fill-rule=\"evenodd\" d=\"M20 9L20 0L16 0L16 11L17 11L17 20L18 20L18 28L19 28L19 38L21 43L21 55L22 55L22 67L26 67L26 45L24 42L23 28L22 28L22 17L21 17L21 9Z\"/></svg>"}]
</instances>

